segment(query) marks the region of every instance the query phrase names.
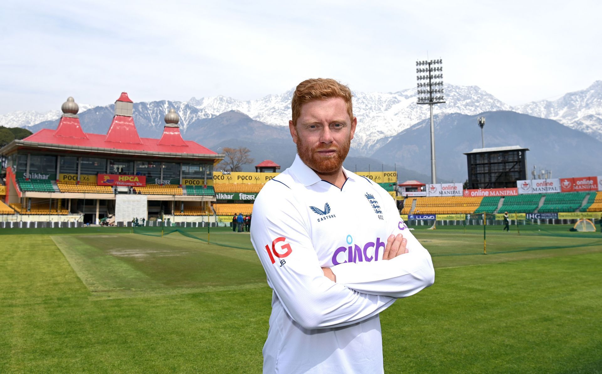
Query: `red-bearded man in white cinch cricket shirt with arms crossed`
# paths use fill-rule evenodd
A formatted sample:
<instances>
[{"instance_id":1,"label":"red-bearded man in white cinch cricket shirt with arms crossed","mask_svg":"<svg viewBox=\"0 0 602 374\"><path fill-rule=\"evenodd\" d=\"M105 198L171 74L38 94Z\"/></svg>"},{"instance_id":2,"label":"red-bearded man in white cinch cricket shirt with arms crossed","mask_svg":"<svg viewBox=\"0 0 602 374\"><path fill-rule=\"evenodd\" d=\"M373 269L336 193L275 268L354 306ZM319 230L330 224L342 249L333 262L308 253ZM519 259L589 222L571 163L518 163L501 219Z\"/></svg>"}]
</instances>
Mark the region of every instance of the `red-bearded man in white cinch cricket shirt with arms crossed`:
<instances>
[{"instance_id":1,"label":"red-bearded man in white cinch cricket shirt with arms crossed","mask_svg":"<svg viewBox=\"0 0 602 374\"><path fill-rule=\"evenodd\" d=\"M297 86L297 156L253 204L251 242L272 288L264 373L382 373L379 313L433 284L429 252L382 187L344 169L357 125L334 79Z\"/></svg>"}]
</instances>

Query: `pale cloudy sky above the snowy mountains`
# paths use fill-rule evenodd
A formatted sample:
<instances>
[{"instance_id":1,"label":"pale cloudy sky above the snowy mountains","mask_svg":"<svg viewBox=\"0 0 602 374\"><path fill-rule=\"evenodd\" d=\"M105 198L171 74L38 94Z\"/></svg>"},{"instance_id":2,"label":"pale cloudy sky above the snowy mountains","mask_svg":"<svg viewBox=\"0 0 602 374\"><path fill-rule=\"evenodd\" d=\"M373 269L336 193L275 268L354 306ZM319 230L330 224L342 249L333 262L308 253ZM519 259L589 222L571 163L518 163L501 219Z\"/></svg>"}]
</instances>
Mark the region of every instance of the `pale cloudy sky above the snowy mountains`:
<instances>
[{"instance_id":1,"label":"pale cloudy sky above the snowy mountains","mask_svg":"<svg viewBox=\"0 0 602 374\"><path fill-rule=\"evenodd\" d=\"M445 83L509 105L602 79L599 1L0 2L0 114L286 92L335 78L359 92Z\"/></svg>"}]
</instances>

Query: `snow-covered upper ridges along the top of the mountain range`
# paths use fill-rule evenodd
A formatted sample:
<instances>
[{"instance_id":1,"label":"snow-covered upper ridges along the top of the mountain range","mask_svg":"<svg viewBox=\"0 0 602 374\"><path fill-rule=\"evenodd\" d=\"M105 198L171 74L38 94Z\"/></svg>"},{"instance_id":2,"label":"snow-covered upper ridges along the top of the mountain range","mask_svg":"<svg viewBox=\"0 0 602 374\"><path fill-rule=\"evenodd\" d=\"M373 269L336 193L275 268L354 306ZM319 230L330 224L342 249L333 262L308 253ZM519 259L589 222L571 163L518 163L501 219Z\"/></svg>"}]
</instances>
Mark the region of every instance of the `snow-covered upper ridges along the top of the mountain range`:
<instances>
[{"instance_id":1,"label":"snow-covered upper ridges along the top of the mountain range","mask_svg":"<svg viewBox=\"0 0 602 374\"><path fill-rule=\"evenodd\" d=\"M554 119L563 125L577 129L602 140L602 81L597 81L588 89L567 93L556 101L538 101L518 107L501 102L494 96L477 86L455 86L446 84L445 104L435 107L436 114L461 113L473 115L485 111L513 110L532 116ZM358 117L353 146L361 154L368 155L386 143L391 137L399 134L409 126L429 116L427 105L416 105L416 90L405 89L393 93L364 93L353 92L353 111ZM291 98L293 90L280 95L268 95L264 98L250 101L240 101L226 96L208 98L191 98L185 102L154 101L138 102L134 104L134 120L139 128L148 131L148 135L155 136L163 130L163 116L169 108L178 111L180 126L184 133L188 125L200 119L216 117L230 110L237 110L247 114L254 120L268 125L286 126L291 116ZM113 105L95 107L88 111L90 105L80 104L80 115L92 110L99 115L112 116ZM105 113L106 112L106 113ZM4 126L29 126L35 130L50 126L60 116L60 111L37 113L33 111L13 112L0 116L0 125ZM50 121L50 122L49 122ZM39 123L42 122L42 123ZM104 123L98 126L107 126ZM39 125L32 126L35 123ZM93 126L96 127L96 126ZM101 128L87 128L86 131L102 131Z\"/></svg>"}]
</instances>

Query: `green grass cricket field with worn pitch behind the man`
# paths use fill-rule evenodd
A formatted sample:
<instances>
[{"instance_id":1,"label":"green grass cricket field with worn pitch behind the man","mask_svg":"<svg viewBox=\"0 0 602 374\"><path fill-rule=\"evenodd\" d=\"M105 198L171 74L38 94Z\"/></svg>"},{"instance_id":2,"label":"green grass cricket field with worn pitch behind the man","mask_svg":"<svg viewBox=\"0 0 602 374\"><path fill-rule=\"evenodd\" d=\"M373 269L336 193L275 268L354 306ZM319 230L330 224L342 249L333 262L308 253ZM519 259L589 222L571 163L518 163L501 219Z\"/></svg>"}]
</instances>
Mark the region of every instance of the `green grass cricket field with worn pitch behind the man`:
<instances>
[{"instance_id":1,"label":"green grass cricket field with worn pitch behind the man","mask_svg":"<svg viewBox=\"0 0 602 374\"><path fill-rule=\"evenodd\" d=\"M436 281L381 314L385 372L602 372L602 240L491 229L485 256L479 229L414 231ZM254 251L25 230L0 230L1 373L261 372L272 293Z\"/></svg>"}]
</instances>

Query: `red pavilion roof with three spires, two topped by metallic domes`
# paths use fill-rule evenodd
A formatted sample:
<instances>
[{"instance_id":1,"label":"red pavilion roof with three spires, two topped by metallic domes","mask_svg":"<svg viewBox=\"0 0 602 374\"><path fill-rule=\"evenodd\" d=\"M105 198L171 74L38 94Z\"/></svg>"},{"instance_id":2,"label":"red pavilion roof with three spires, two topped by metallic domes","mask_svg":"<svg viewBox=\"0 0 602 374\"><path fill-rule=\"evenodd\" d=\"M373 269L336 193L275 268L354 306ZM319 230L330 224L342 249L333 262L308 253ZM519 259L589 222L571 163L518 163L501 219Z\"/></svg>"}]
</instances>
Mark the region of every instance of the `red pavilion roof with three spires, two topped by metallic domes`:
<instances>
[{"instance_id":1,"label":"red pavilion roof with three spires, two topped by metallic domes","mask_svg":"<svg viewBox=\"0 0 602 374\"><path fill-rule=\"evenodd\" d=\"M8 154L17 148L45 148L146 157L212 158L215 161L224 157L199 143L182 139L179 116L173 109L165 116L166 125L161 139L141 138L132 117L133 103L125 92L115 102L115 115L106 135L83 131L77 116L79 108L73 98L68 98L61 110L63 116L56 130L41 129L23 140L13 140L0 149L0 154Z\"/></svg>"}]
</instances>

